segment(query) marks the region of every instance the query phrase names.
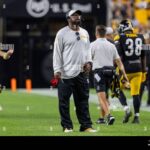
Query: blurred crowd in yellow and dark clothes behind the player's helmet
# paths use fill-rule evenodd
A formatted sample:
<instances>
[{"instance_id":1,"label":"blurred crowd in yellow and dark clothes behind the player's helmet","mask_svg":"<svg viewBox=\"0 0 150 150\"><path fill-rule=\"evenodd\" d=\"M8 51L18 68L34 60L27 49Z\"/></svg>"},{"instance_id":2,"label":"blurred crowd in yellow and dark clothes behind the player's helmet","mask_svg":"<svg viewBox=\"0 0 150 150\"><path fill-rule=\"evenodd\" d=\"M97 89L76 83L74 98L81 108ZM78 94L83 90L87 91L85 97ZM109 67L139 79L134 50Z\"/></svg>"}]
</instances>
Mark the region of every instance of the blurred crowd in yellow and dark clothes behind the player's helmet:
<instances>
[{"instance_id":1,"label":"blurred crowd in yellow and dark clothes behind the player's helmet","mask_svg":"<svg viewBox=\"0 0 150 150\"><path fill-rule=\"evenodd\" d=\"M110 6L114 31L122 19L131 19L135 32L143 34L150 43L150 0L112 0Z\"/></svg>"}]
</instances>

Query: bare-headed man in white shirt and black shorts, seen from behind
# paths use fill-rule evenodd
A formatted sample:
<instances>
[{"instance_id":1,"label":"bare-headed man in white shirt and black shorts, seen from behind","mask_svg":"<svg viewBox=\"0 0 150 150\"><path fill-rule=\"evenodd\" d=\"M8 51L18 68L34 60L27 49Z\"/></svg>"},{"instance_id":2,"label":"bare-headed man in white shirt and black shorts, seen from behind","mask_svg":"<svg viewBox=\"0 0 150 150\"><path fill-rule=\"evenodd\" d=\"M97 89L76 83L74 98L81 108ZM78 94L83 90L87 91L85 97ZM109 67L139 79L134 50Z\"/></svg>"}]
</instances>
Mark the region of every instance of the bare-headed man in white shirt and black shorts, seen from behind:
<instances>
[{"instance_id":1,"label":"bare-headed man in white shirt and black shorts, seen from behind","mask_svg":"<svg viewBox=\"0 0 150 150\"><path fill-rule=\"evenodd\" d=\"M107 118L107 124L112 125L115 118L110 114L108 100L106 98L106 87L110 86L115 73L114 62L122 72L124 79L128 82L124 66L114 44L106 38L106 27L96 26L96 40L91 43L90 50L93 60L94 84L98 95L101 115Z\"/></svg>"}]
</instances>

